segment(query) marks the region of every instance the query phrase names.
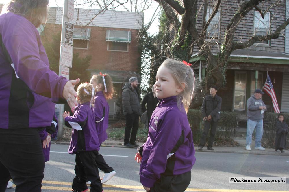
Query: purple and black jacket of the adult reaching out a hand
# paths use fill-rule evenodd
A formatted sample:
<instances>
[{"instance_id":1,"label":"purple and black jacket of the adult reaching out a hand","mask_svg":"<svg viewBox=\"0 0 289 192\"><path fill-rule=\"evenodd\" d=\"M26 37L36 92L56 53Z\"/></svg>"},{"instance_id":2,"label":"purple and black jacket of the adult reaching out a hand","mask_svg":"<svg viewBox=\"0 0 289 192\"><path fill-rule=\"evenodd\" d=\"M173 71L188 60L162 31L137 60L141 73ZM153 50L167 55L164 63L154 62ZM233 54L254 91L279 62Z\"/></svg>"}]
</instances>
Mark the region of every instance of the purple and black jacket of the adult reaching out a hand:
<instances>
[{"instance_id":1,"label":"purple and black jacket of the adult reaching out a hand","mask_svg":"<svg viewBox=\"0 0 289 192\"><path fill-rule=\"evenodd\" d=\"M13 62L0 45L0 128L50 126L52 102L64 101L62 90L68 80L49 69L40 35L26 18L1 14L0 34Z\"/></svg>"}]
</instances>

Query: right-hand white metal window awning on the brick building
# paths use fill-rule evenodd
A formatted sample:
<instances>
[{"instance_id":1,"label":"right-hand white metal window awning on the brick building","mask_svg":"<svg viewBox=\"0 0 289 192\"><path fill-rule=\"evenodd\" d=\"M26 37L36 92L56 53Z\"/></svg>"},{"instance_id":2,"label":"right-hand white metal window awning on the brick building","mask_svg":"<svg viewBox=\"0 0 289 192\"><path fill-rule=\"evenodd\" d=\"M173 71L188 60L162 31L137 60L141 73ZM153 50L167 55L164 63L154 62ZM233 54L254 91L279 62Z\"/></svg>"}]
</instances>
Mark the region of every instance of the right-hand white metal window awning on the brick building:
<instances>
[{"instance_id":1,"label":"right-hand white metal window awning on the brick building","mask_svg":"<svg viewBox=\"0 0 289 192\"><path fill-rule=\"evenodd\" d=\"M117 31L117 30L106 30L106 41L115 42L131 42L131 32L130 31Z\"/></svg>"}]
</instances>

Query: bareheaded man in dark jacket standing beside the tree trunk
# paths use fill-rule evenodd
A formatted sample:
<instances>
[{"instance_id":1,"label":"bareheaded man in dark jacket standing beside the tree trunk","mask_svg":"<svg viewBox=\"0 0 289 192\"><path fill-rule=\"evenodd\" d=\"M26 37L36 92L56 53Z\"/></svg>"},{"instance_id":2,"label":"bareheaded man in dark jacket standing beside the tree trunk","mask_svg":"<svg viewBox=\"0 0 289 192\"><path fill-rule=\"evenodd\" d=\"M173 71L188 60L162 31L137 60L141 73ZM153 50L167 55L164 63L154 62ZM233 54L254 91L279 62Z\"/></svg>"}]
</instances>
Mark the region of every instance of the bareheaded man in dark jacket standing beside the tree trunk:
<instances>
[{"instance_id":1,"label":"bareheaded man in dark jacket standing beside the tree trunk","mask_svg":"<svg viewBox=\"0 0 289 192\"><path fill-rule=\"evenodd\" d=\"M220 119L220 110L222 105L222 98L217 95L218 88L216 86L211 86L210 95L206 96L202 104L202 117L204 122L204 131L201 136L201 142L199 144L199 150L202 150L206 138L211 127L210 138L208 142L207 149L214 150L213 143L215 140L215 134L217 130L217 123Z\"/></svg>"}]
</instances>

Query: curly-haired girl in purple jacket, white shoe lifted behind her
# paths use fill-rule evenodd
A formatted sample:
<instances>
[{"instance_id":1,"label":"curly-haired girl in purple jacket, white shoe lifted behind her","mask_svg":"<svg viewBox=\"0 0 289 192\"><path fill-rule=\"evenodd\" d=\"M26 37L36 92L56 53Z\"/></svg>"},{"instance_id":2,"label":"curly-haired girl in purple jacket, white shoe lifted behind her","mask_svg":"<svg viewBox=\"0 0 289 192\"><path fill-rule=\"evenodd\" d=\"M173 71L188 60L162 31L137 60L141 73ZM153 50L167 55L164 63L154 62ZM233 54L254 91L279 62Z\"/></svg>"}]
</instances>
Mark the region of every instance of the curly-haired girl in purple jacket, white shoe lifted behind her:
<instances>
[{"instance_id":1,"label":"curly-haired girl in purple jacket, white shoe lifted behind her","mask_svg":"<svg viewBox=\"0 0 289 192\"><path fill-rule=\"evenodd\" d=\"M90 79L90 83L97 89L94 102L94 118L99 143L101 144L108 138L106 129L108 128L109 105L106 100L112 98L114 88L110 75L102 74L101 72L99 75L93 75ZM102 157L102 155L100 156ZM108 166L103 157L98 160L98 168L104 172L101 183L105 183L110 180L116 172L112 167Z\"/></svg>"}]
</instances>

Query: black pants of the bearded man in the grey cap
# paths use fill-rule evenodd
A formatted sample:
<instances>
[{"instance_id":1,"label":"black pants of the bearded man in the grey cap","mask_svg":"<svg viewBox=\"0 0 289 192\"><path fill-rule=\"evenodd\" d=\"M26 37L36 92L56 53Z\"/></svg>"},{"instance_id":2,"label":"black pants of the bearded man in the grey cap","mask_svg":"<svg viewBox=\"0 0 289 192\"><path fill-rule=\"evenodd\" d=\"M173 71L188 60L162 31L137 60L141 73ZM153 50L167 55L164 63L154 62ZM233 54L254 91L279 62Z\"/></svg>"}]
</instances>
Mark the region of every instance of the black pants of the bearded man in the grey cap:
<instances>
[{"instance_id":1,"label":"black pants of the bearded man in the grey cap","mask_svg":"<svg viewBox=\"0 0 289 192\"><path fill-rule=\"evenodd\" d=\"M139 115L138 114L127 114L125 115L125 139L124 143L129 143L129 142L135 142L136 141L136 134L138 132L138 120L139 120ZM131 134L130 130L132 128ZM130 138L130 140L129 140Z\"/></svg>"}]
</instances>

